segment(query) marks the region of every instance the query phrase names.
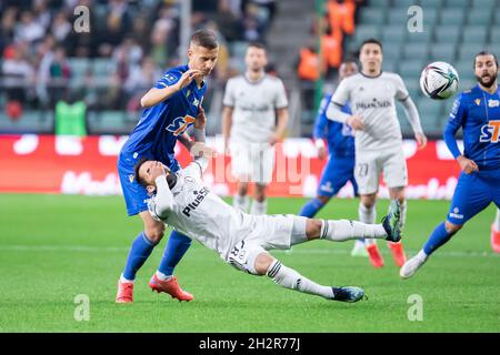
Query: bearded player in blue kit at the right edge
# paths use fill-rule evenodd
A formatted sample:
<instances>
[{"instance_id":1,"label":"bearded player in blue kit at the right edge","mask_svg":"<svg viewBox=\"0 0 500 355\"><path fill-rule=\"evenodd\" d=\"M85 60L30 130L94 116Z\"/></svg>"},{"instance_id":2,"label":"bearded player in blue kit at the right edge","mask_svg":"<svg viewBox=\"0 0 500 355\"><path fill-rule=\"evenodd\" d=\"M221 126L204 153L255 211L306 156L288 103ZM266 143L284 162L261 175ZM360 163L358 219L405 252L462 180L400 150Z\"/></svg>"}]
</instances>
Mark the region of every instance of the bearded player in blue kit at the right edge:
<instances>
[{"instance_id":1,"label":"bearded player in blue kit at the right edge","mask_svg":"<svg viewBox=\"0 0 500 355\"><path fill-rule=\"evenodd\" d=\"M456 100L444 141L462 172L454 190L447 221L439 224L423 248L404 263L400 276L411 277L441 245L463 224L491 202L500 207L500 92L498 60L493 53L480 52L474 58L478 84ZM454 135L462 128L463 153Z\"/></svg>"}]
</instances>

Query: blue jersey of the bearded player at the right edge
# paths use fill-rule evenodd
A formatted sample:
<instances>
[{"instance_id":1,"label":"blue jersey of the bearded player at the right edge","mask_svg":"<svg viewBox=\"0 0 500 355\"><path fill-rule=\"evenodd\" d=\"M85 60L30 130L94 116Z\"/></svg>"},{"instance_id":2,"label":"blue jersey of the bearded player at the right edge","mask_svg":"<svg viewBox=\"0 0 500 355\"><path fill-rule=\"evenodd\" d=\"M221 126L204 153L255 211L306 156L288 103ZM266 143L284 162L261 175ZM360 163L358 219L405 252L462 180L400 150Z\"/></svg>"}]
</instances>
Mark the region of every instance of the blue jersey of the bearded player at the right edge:
<instances>
[{"instance_id":1,"label":"blue jersey of the bearded player at the right edge","mask_svg":"<svg viewBox=\"0 0 500 355\"><path fill-rule=\"evenodd\" d=\"M463 154L479 170L500 169L500 91L483 91L479 84L462 92L453 103L446 131L462 128Z\"/></svg>"}]
</instances>

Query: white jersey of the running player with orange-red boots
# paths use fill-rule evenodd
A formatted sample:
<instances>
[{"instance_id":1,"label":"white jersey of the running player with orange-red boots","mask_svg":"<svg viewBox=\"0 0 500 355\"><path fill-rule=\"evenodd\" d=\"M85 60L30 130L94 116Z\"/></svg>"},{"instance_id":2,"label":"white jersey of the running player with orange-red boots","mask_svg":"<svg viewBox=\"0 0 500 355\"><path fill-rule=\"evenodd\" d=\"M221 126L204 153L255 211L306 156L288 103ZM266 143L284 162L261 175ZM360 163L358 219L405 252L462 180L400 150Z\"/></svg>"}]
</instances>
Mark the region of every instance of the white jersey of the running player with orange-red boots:
<instances>
[{"instance_id":1,"label":"white jersey of the running player with orange-red boots","mask_svg":"<svg viewBox=\"0 0 500 355\"><path fill-rule=\"evenodd\" d=\"M382 72L374 78L358 73L340 82L332 102L339 106L349 102L352 113L362 116L364 130L354 133L356 150L373 151L401 146L394 100L408 98L408 90L396 73Z\"/></svg>"}]
</instances>

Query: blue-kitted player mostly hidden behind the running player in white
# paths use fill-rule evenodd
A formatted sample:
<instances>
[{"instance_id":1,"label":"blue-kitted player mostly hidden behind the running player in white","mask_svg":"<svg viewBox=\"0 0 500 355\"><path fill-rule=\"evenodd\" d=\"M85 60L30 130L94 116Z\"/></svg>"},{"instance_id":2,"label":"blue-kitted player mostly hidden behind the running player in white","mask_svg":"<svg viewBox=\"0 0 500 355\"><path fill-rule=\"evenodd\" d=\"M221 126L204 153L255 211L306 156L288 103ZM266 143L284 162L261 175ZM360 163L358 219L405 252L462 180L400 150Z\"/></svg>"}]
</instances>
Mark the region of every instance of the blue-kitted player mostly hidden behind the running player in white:
<instances>
[{"instance_id":1,"label":"blue-kitted player mostly hidden behind the running player in white","mask_svg":"<svg viewBox=\"0 0 500 355\"><path fill-rule=\"evenodd\" d=\"M339 81L358 72L358 65L353 60L344 61L339 68ZM327 108L331 101L331 93L327 93L316 116L313 139L318 149L318 158L327 156L323 140L328 142L328 162L321 173L316 197L309 201L299 215L313 217L333 197L347 182L351 182L354 195L358 195L358 184L354 179L354 138L352 129L346 123L339 123L327 119ZM342 106L342 112L352 114L349 104ZM352 255L367 255L362 241L357 241Z\"/></svg>"}]
</instances>

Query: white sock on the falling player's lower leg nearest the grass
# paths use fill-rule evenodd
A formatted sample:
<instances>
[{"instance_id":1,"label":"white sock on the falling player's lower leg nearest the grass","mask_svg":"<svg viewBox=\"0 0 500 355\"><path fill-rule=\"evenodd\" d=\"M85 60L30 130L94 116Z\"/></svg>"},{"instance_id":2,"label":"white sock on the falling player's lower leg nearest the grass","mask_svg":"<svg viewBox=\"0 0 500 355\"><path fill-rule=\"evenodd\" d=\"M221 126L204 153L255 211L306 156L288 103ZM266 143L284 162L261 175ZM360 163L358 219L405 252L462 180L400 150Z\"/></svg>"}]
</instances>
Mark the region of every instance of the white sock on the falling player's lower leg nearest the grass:
<instances>
[{"instance_id":1,"label":"white sock on the falling player's lower leg nearest the grass","mask_svg":"<svg viewBox=\"0 0 500 355\"><path fill-rule=\"evenodd\" d=\"M333 298L332 287L319 285L316 282L303 277L293 268L284 266L277 260L272 262L266 274L282 287L296 290L311 295L318 295L327 300Z\"/></svg>"}]
</instances>

